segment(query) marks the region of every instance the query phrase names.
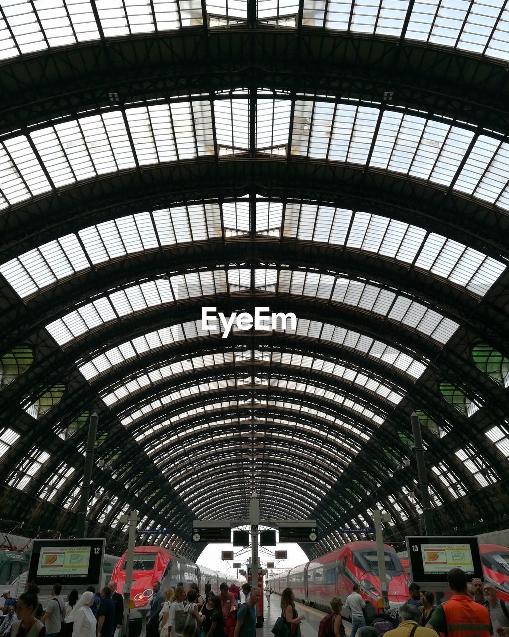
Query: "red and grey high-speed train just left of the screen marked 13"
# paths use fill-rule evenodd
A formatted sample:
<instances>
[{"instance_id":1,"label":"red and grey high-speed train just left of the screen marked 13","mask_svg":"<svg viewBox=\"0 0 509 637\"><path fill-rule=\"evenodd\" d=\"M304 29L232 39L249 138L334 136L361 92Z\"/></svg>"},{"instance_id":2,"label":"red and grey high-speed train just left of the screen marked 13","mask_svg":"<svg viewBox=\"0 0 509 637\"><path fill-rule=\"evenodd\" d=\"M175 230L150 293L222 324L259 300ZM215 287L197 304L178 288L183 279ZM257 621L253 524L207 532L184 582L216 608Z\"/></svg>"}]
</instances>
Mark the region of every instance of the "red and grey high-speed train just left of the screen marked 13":
<instances>
[{"instance_id":1,"label":"red and grey high-speed train just left of the screen marked 13","mask_svg":"<svg viewBox=\"0 0 509 637\"><path fill-rule=\"evenodd\" d=\"M408 576L401 567L393 547L384 545L389 604L399 606L408 599ZM290 587L295 599L309 606L330 611L330 600L338 596L345 601L354 583L361 587L361 595L376 606L380 598L377 545L375 542L351 542L268 580L267 585L281 593Z\"/></svg>"}]
</instances>

